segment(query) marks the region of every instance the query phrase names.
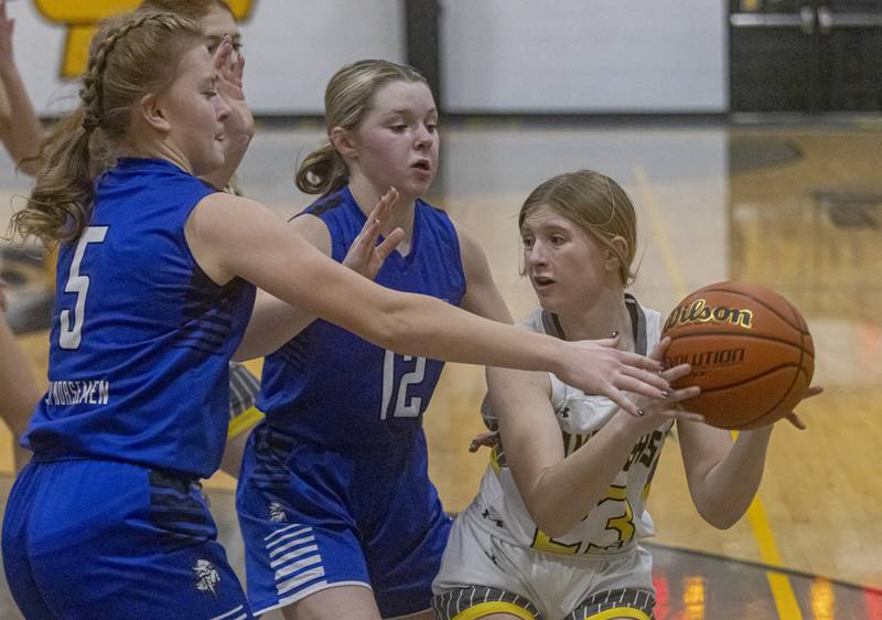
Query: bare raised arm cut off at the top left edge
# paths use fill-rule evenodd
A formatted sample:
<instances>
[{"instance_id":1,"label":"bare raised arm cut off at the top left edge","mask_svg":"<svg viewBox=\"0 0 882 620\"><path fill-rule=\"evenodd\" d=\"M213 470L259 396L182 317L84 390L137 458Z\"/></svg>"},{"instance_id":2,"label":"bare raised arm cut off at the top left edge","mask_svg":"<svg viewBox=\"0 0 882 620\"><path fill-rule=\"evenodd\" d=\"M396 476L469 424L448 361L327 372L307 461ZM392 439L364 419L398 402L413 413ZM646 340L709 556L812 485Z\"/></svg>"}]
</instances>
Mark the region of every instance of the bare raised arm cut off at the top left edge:
<instances>
[{"instance_id":1,"label":"bare raised arm cut off at the top left edge","mask_svg":"<svg viewBox=\"0 0 882 620\"><path fill-rule=\"evenodd\" d=\"M23 172L35 174L40 165L33 158L40 154L43 126L15 66L14 25L7 15L6 0L0 0L0 141Z\"/></svg>"}]
</instances>

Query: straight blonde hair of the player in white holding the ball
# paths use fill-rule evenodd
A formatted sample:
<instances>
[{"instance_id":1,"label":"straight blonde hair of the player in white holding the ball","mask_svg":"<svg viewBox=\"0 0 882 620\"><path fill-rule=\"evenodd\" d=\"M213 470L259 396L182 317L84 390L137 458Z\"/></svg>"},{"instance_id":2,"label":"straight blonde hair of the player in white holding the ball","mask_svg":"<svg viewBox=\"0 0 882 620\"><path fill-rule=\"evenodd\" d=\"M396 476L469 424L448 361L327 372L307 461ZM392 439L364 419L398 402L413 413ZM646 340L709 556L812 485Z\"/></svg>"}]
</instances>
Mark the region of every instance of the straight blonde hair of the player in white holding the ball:
<instances>
[{"instance_id":1,"label":"straight blonde hair of the player in white holding the ball","mask_svg":"<svg viewBox=\"0 0 882 620\"><path fill-rule=\"evenodd\" d=\"M634 204L619 183L593 170L552 177L524 201L517 218L518 227L524 225L533 210L541 205L553 209L612 250L619 257L622 284L627 286L634 281L631 264L637 249L637 216ZM611 243L616 236L627 244L624 254Z\"/></svg>"}]
</instances>

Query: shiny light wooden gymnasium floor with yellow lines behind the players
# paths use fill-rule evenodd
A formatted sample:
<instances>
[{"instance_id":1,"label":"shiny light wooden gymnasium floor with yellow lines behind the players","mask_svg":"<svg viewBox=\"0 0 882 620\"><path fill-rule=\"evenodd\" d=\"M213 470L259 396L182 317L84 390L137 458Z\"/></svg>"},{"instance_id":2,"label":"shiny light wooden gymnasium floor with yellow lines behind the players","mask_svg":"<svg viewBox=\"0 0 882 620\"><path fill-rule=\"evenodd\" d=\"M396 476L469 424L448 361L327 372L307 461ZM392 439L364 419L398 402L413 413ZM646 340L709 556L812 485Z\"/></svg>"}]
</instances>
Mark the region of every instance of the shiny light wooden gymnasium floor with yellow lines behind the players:
<instances>
[{"instance_id":1,"label":"shiny light wooden gymnasium floor with yellow lines behind the players","mask_svg":"<svg viewBox=\"0 0 882 620\"><path fill-rule=\"evenodd\" d=\"M669 441L649 510L658 535L657 617L663 619L882 619L882 126L738 127L714 124L460 124L443 130L432 201L485 247L516 317L535 301L518 272L516 213L558 172L593 168L628 191L642 257L633 292L666 313L687 292L723 279L763 284L808 321L827 392L799 408L809 428L776 428L757 501L718 532L696 514L679 450ZM281 215L308 197L292 189L294 161L321 138L311 124L261 127L240 181ZM3 158L3 156L0 156ZM0 224L26 192L0 159ZM21 257L11 319L40 323L41 272ZM44 319L43 319L44 320ZM28 324L30 323L30 324ZM45 373L45 332L21 336ZM471 500L486 455L466 450L481 429L480 368L451 365L427 414L431 469L445 506ZM0 474L9 472L0 429ZM9 478L0 478L6 496ZM240 563L230 489L208 482L230 556ZM19 618L0 590L0 619Z\"/></svg>"}]
</instances>

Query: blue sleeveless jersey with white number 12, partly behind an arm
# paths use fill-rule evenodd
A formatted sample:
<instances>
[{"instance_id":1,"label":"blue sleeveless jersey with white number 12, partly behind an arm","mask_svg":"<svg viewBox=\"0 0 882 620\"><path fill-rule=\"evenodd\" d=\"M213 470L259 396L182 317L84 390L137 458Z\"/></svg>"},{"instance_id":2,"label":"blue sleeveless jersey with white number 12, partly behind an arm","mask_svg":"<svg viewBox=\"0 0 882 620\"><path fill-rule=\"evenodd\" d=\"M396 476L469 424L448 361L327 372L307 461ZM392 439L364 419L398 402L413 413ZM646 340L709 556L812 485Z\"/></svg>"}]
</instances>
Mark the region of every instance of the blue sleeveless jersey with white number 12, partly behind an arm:
<instances>
[{"instance_id":1,"label":"blue sleeveless jersey with white number 12, partly behind an arm","mask_svg":"<svg viewBox=\"0 0 882 620\"><path fill-rule=\"evenodd\" d=\"M337 261L366 221L348 188L316 201L303 213L325 223ZM417 201L410 253L394 252L375 280L459 306L465 275L456 232L447 214ZM409 445L412 434L421 429L442 368L443 362L385 351L319 319L266 357L258 408L273 428L320 445L399 440Z\"/></svg>"}]
</instances>

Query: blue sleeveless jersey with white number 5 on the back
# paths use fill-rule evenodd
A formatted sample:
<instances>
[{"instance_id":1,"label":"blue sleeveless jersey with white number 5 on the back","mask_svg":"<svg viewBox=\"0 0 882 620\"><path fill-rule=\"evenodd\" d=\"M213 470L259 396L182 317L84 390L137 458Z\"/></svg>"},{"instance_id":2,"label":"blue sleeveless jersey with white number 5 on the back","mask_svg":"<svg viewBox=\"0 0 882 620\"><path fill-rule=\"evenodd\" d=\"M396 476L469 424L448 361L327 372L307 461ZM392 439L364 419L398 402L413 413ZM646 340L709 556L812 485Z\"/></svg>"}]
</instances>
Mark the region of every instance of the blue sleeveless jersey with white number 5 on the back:
<instances>
[{"instance_id":1,"label":"blue sleeveless jersey with white number 5 on the back","mask_svg":"<svg viewBox=\"0 0 882 620\"><path fill-rule=\"evenodd\" d=\"M60 248L50 387L23 443L40 459L207 478L255 289L215 285L190 252L184 224L209 185L164 160L123 159L96 191L89 227Z\"/></svg>"}]
</instances>

